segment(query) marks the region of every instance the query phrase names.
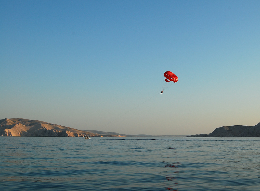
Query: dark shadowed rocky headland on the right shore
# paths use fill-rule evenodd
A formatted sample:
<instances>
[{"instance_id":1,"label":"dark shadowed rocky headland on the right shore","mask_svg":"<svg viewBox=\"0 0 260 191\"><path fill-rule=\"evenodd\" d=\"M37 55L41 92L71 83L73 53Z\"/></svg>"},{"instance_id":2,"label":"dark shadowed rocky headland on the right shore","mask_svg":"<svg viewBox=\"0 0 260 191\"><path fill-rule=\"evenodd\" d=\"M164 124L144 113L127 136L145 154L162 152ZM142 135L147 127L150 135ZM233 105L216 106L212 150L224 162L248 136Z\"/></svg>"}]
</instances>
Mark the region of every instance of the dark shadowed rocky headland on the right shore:
<instances>
[{"instance_id":1,"label":"dark shadowed rocky headland on the right shore","mask_svg":"<svg viewBox=\"0 0 260 191\"><path fill-rule=\"evenodd\" d=\"M260 137L260 123L255 126L223 126L216 128L210 134L197 134L187 137Z\"/></svg>"}]
</instances>

